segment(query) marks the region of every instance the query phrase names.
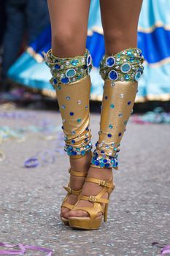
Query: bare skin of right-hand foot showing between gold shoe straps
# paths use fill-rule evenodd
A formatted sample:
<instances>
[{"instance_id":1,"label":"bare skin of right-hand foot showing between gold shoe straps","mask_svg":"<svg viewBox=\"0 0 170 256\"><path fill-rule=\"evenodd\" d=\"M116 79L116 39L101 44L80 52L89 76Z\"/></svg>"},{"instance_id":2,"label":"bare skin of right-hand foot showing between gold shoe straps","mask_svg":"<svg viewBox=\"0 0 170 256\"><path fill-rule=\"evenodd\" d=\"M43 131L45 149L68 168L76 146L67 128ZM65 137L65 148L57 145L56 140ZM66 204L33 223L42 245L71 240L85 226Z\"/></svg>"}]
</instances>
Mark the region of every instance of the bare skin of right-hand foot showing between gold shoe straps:
<instances>
[{"instance_id":1,"label":"bare skin of right-hand foot showing between gold shoe straps","mask_svg":"<svg viewBox=\"0 0 170 256\"><path fill-rule=\"evenodd\" d=\"M112 177L112 168L96 168L96 167L90 167L88 170L88 176L89 178L98 178L101 180L109 181L109 179ZM98 195L99 192L103 187L99 186L98 184L92 183L92 182L85 182L82 187L81 195ZM102 198L107 199L108 193L106 192ZM79 200L77 203L78 207L93 207L93 203L87 201L87 200ZM102 206L104 208L105 204L102 203ZM97 217L101 217L102 213L98 212ZM69 211L69 217L89 217L89 214L87 211L80 211L80 210L71 210Z\"/></svg>"}]
</instances>

